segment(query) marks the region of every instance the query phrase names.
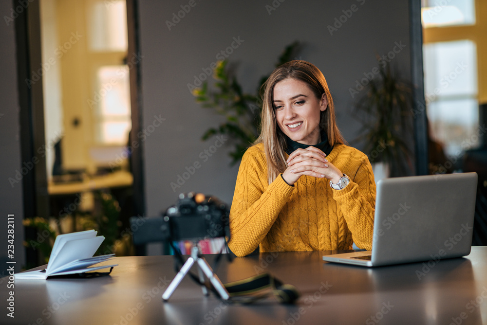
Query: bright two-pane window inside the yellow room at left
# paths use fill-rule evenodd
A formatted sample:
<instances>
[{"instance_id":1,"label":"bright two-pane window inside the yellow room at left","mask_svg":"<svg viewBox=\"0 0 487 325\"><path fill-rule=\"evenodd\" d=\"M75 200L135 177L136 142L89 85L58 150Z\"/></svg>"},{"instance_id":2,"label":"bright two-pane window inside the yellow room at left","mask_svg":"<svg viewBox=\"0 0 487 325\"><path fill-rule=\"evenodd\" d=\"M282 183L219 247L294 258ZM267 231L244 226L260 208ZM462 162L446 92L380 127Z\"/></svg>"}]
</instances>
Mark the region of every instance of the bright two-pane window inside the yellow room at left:
<instances>
[{"instance_id":1,"label":"bright two-pane window inside the yellow room at left","mask_svg":"<svg viewBox=\"0 0 487 325\"><path fill-rule=\"evenodd\" d=\"M94 0L89 7L88 55L94 82L94 145L127 144L131 129L127 9L124 0Z\"/></svg>"}]
</instances>

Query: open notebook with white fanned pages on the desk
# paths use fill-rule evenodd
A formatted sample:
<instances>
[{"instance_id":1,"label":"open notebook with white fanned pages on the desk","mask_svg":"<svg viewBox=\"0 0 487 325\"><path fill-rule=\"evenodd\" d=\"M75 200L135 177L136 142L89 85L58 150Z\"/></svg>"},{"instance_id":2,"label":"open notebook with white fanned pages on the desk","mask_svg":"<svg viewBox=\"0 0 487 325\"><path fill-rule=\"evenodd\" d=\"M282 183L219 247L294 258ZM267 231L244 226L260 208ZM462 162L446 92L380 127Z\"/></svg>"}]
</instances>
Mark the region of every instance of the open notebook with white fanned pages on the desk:
<instances>
[{"instance_id":1,"label":"open notebook with white fanned pages on the desk","mask_svg":"<svg viewBox=\"0 0 487 325\"><path fill-rule=\"evenodd\" d=\"M16 273L15 279L45 280L50 276L67 275L112 268L115 265L89 266L106 261L115 254L93 256L105 239L96 236L96 231L58 235L45 270Z\"/></svg>"}]
</instances>

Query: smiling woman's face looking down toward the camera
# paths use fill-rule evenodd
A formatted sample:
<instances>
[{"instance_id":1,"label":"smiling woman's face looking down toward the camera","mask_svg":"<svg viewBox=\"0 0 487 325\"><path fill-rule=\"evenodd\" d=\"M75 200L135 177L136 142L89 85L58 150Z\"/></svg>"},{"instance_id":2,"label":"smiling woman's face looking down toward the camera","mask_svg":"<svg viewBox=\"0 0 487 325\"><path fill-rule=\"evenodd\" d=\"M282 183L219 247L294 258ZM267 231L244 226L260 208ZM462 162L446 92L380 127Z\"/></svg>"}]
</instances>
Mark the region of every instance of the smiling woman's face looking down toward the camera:
<instances>
[{"instance_id":1,"label":"smiling woman's face looking down toward the camera","mask_svg":"<svg viewBox=\"0 0 487 325\"><path fill-rule=\"evenodd\" d=\"M281 131L300 144L321 141L319 115L328 106L326 95L317 98L304 82L284 79L274 86L273 106Z\"/></svg>"}]
</instances>

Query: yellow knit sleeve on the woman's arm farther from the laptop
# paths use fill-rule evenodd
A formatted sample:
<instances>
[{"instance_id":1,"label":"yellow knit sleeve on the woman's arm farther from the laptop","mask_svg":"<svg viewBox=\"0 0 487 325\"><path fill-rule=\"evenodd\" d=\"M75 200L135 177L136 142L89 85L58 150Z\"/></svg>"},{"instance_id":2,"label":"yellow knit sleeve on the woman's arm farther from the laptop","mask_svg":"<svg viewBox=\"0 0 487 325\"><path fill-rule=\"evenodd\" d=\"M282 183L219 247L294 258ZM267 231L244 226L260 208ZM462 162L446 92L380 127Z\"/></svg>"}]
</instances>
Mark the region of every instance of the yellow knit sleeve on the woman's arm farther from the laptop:
<instances>
[{"instance_id":1,"label":"yellow knit sleeve on the woman's arm farther from the laptop","mask_svg":"<svg viewBox=\"0 0 487 325\"><path fill-rule=\"evenodd\" d=\"M256 147L242 158L232 206L228 247L237 256L252 253L269 232L294 187L277 177L266 188L265 156Z\"/></svg>"}]
</instances>

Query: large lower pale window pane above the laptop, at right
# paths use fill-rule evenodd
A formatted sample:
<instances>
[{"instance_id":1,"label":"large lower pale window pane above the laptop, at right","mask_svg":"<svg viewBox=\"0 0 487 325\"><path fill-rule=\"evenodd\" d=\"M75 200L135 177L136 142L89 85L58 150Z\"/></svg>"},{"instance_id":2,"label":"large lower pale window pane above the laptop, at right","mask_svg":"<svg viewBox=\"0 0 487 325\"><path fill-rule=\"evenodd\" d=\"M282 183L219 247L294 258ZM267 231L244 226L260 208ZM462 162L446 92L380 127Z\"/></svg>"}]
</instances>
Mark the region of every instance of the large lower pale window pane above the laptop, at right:
<instances>
[{"instance_id":1,"label":"large lower pale window pane above the laptop, at right","mask_svg":"<svg viewBox=\"0 0 487 325\"><path fill-rule=\"evenodd\" d=\"M477 59L469 40L425 44L425 97L431 134L447 156L478 144ZM466 142L466 139L472 141Z\"/></svg>"}]
</instances>

